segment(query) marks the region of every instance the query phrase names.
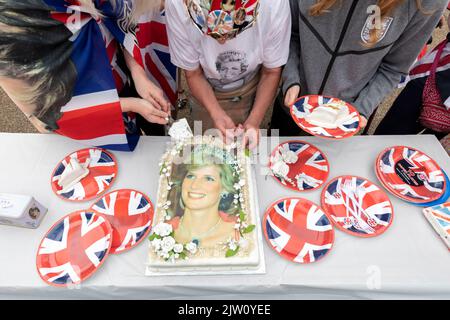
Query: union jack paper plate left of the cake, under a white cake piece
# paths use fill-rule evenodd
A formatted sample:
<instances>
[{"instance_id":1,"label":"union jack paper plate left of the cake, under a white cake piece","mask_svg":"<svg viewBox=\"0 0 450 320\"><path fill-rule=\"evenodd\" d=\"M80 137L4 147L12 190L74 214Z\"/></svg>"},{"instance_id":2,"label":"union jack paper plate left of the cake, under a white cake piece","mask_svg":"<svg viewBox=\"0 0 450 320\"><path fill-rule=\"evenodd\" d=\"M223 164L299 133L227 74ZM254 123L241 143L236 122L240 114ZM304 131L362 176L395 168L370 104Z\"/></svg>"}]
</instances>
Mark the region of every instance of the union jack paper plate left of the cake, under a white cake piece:
<instances>
[{"instance_id":1,"label":"union jack paper plate left of the cake, under a white cake piece","mask_svg":"<svg viewBox=\"0 0 450 320\"><path fill-rule=\"evenodd\" d=\"M58 181L70 164L71 158L77 159L80 164L87 163L89 174L67 190L63 190ZM106 192L116 176L117 162L111 153L98 148L82 149L68 155L58 163L52 173L52 190L63 200L88 201Z\"/></svg>"}]
</instances>

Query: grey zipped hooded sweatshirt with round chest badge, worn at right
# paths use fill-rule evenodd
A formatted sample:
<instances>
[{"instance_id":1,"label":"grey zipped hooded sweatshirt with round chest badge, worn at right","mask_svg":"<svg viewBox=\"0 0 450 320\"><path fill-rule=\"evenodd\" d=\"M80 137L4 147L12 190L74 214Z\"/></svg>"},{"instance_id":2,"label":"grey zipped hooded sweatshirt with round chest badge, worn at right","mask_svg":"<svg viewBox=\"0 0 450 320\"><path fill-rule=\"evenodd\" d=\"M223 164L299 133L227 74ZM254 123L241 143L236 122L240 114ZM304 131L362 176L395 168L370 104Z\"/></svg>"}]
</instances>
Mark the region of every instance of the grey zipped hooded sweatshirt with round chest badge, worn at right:
<instances>
[{"instance_id":1,"label":"grey zipped hooded sweatshirt with round chest badge, worn at right","mask_svg":"<svg viewBox=\"0 0 450 320\"><path fill-rule=\"evenodd\" d=\"M380 21L375 45L364 45L374 26L377 0L337 1L321 16L309 15L316 0L290 0L292 38L283 71L283 94L334 96L369 117L406 76L436 27L448 0L405 0ZM287 108L284 108L287 110Z\"/></svg>"}]
</instances>

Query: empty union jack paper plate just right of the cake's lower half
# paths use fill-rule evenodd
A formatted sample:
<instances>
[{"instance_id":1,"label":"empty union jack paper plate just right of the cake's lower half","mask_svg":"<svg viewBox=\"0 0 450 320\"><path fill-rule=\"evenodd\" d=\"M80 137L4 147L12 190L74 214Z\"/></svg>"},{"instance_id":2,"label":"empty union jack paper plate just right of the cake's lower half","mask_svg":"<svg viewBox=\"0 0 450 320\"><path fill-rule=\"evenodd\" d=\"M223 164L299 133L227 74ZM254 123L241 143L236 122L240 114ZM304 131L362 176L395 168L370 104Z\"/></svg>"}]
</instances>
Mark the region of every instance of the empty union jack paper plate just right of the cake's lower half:
<instances>
[{"instance_id":1,"label":"empty union jack paper plate just right of the cake's lower half","mask_svg":"<svg viewBox=\"0 0 450 320\"><path fill-rule=\"evenodd\" d=\"M270 246L283 258L307 264L333 247L334 229L322 209L309 200L285 198L266 211L263 229Z\"/></svg>"}]
</instances>

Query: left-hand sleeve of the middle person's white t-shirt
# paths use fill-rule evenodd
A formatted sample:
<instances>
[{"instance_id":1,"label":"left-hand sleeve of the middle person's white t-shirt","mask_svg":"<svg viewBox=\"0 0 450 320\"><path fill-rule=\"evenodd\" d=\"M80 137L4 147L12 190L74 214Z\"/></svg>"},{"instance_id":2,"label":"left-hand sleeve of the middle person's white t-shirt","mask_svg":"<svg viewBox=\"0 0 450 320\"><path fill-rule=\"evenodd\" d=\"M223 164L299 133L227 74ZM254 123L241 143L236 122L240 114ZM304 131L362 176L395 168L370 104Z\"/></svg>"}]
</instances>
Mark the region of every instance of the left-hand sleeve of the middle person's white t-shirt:
<instances>
[{"instance_id":1,"label":"left-hand sleeve of the middle person's white t-shirt","mask_svg":"<svg viewBox=\"0 0 450 320\"><path fill-rule=\"evenodd\" d=\"M189 38L193 26L185 11L181 0L166 0L170 60L181 69L195 70L200 66L200 57Z\"/></svg>"}]
</instances>

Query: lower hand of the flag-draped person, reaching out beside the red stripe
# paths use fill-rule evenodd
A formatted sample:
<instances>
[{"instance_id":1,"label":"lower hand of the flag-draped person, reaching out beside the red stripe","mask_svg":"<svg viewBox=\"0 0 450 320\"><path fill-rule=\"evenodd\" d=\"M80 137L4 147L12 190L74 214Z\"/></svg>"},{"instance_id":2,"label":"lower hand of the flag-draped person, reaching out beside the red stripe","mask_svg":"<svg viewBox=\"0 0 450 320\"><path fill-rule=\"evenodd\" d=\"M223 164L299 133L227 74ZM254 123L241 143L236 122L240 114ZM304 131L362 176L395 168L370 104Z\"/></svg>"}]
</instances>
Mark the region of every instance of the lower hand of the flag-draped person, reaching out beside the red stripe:
<instances>
[{"instance_id":1,"label":"lower hand of the flag-draped person, reaching out beside the red stripe","mask_svg":"<svg viewBox=\"0 0 450 320\"><path fill-rule=\"evenodd\" d=\"M122 112L135 112L140 114L148 122L167 124L169 113L160 110L147 100L139 98L120 98Z\"/></svg>"}]
</instances>

